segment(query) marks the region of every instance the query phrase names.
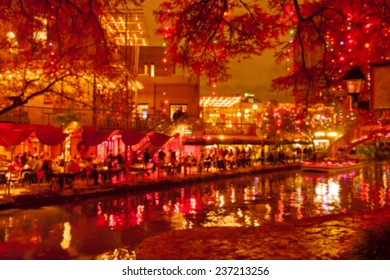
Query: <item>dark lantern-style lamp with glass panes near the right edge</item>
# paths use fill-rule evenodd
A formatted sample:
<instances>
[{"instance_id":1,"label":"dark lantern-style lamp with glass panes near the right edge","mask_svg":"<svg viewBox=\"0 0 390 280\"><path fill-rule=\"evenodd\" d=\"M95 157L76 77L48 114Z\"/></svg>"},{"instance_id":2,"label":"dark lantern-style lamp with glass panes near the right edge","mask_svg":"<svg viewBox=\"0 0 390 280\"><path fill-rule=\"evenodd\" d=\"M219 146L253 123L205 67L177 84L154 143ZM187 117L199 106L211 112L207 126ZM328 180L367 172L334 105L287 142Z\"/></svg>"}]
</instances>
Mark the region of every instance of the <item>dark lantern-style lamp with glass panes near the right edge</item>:
<instances>
[{"instance_id":1,"label":"dark lantern-style lamp with glass panes near the right edge","mask_svg":"<svg viewBox=\"0 0 390 280\"><path fill-rule=\"evenodd\" d=\"M369 101L358 101L359 94L363 89L366 78L359 67L352 67L344 76L347 94L351 96L352 107L362 110L370 110Z\"/></svg>"}]
</instances>

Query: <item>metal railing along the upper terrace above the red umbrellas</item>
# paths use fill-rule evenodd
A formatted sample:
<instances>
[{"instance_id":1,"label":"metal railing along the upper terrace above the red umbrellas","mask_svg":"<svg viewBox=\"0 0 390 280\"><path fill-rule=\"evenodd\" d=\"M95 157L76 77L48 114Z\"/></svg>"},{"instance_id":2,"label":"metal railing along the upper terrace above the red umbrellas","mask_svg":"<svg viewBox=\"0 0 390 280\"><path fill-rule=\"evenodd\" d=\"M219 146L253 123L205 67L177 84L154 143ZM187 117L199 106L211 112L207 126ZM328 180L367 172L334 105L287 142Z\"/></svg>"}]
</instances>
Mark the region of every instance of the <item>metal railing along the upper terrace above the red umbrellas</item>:
<instances>
[{"instance_id":1,"label":"metal railing along the upper terrace above the red umbrellas","mask_svg":"<svg viewBox=\"0 0 390 280\"><path fill-rule=\"evenodd\" d=\"M92 109L56 109L23 106L0 115L0 122L61 126L64 122L77 120L82 126L95 126L99 129L134 128L143 131L156 131L172 134L173 122L168 116L153 114L129 115L127 119L118 112L96 111ZM186 135L256 135L256 125L251 123L207 123L200 118L188 117L180 120L188 124L191 131Z\"/></svg>"}]
</instances>

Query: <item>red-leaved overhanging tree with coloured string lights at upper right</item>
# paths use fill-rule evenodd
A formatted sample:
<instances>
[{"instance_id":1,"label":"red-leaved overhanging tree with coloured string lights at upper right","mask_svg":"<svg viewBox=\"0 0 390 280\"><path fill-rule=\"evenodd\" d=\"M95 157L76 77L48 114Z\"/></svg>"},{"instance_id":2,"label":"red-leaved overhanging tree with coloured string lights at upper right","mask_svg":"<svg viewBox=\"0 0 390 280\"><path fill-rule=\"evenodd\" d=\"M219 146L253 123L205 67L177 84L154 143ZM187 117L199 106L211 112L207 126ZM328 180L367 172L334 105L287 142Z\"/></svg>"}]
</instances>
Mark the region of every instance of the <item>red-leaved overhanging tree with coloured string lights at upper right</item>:
<instances>
[{"instance_id":1,"label":"red-leaved overhanging tree with coloured string lights at upper right","mask_svg":"<svg viewBox=\"0 0 390 280\"><path fill-rule=\"evenodd\" d=\"M332 103L351 66L389 60L389 11L383 0L176 0L156 11L169 54L209 84L227 81L228 62L275 50L286 75L274 90L305 104Z\"/></svg>"}]
</instances>

